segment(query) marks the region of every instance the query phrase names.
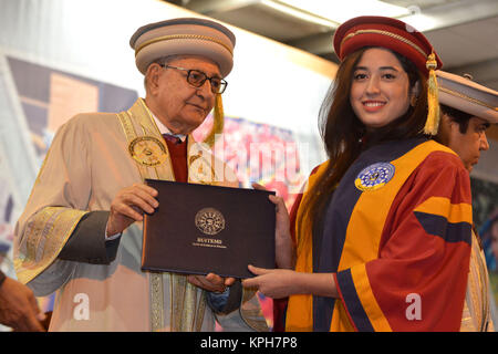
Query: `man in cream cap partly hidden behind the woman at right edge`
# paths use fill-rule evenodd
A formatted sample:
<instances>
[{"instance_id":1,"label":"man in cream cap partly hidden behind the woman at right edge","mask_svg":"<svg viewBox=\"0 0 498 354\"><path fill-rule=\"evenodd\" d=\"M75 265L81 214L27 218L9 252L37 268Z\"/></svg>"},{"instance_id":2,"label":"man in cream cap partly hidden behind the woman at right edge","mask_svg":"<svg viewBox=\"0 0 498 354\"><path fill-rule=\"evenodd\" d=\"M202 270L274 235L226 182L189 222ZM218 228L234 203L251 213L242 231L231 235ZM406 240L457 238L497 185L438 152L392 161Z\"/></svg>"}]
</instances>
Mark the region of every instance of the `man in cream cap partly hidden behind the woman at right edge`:
<instances>
[{"instance_id":1,"label":"man in cream cap partly hidden behind the woman at right edge","mask_svg":"<svg viewBox=\"0 0 498 354\"><path fill-rule=\"evenodd\" d=\"M442 121L438 140L458 154L470 173L480 152L489 148L486 129L498 123L498 92L468 77L436 72ZM490 317L489 278L480 239L473 232L473 251L461 331L494 331Z\"/></svg>"}]
</instances>

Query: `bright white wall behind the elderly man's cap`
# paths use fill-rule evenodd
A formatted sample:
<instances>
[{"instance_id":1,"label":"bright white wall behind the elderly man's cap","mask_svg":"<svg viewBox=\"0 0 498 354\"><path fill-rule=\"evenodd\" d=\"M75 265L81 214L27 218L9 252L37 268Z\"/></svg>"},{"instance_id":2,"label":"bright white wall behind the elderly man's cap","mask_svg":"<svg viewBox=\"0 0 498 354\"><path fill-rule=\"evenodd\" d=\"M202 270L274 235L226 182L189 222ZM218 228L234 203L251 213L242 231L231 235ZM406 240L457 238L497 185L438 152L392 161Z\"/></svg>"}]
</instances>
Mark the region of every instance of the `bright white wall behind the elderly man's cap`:
<instances>
[{"instance_id":1,"label":"bright white wall behind the elderly man's cap","mask_svg":"<svg viewBox=\"0 0 498 354\"><path fill-rule=\"evenodd\" d=\"M0 55L132 88L144 95L128 41L146 23L196 13L156 0L0 0ZM225 113L291 129L324 159L317 116L336 65L229 27L237 37ZM17 115L15 118L20 118ZM304 170L304 174L308 171Z\"/></svg>"}]
</instances>

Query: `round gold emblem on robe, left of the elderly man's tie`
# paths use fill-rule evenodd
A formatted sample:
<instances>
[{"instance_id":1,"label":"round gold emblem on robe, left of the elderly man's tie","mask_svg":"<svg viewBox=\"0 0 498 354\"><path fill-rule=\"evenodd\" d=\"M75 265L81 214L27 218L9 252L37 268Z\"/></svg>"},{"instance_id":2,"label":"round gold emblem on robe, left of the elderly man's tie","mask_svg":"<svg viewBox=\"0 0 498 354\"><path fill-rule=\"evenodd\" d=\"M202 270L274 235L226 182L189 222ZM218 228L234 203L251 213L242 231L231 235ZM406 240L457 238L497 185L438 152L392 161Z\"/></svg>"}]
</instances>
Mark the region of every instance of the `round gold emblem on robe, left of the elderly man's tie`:
<instances>
[{"instance_id":1,"label":"round gold emblem on robe, left of the elderly man's tie","mask_svg":"<svg viewBox=\"0 0 498 354\"><path fill-rule=\"evenodd\" d=\"M132 157L142 165L156 166L167 158L166 147L154 136L138 136L128 145Z\"/></svg>"}]
</instances>

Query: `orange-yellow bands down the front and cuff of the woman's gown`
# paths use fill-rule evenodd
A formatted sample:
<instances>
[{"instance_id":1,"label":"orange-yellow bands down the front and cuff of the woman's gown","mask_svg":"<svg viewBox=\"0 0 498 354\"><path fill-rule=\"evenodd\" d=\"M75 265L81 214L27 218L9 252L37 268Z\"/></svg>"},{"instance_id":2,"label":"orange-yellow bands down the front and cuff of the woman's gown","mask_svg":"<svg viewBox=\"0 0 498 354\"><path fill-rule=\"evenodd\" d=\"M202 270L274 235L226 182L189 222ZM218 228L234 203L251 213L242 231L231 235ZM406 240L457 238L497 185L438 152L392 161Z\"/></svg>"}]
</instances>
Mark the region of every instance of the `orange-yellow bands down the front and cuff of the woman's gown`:
<instances>
[{"instance_id":1,"label":"orange-yellow bands down the front and cuff of the woman's gown","mask_svg":"<svg viewBox=\"0 0 498 354\"><path fill-rule=\"evenodd\" d=\"M454 154L450 149L434 140L419 144L400 158L391 162L396 168L396 174L387 185L377 190L363 192L359 198L347 223L346 237L338 271L351 269L355 284L362 287L363 290L370 289L367 278L362 275L365 273L364 263L377 257L382 230L393 199L396 197L397 191L412 171L434 150L444 150ZM319 180L325 169L326 163L322 164L317 173L310 176L309 187L312 187L317 180ZM308 188L308 190L310 188ZM298 209L297 220L301 220L300 217L304 212L303 209L308 208L307 200L309 198L310 196L308 194L303 195L302 202ZM378 200L383 200L383 202L380 204ZM361 205L362 208L360 208L359 205ZM363 210L375 210L375 214L365 218ZM371 218L375 218L376 221L372 221ZM312 272L312 225L309 218L303 218L302 220L302 226L295 226L298 242L295 270L300 272ZM373 225L376 227L372 228ZM362 244L362 247L359 248L359 244ZM390 324L376 303L373 293L371 291L364 291L363 293L367 294L367 299L363 299L362 303L363 306L369 310L369 316L374 330L391 331ZM286 330L313 331L313 296L311 294L290 296ZM335 301L331 331L354 331L354 327L347 320L346 311L341 301Z\"/></svg>"}]
</instances>

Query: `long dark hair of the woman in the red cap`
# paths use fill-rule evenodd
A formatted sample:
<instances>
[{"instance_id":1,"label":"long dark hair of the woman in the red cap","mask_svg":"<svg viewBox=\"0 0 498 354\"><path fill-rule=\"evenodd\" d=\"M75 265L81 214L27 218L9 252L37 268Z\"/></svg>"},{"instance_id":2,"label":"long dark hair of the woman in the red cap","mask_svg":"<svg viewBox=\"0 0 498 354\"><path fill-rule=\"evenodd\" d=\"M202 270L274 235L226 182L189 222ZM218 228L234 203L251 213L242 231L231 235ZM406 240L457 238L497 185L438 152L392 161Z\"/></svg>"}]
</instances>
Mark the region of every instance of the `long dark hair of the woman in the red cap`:
<instances>
[{"instance_id":1,"label":"long dark hair of the woman in the red cap","mask_svg":"<svg viewBox=\"0 0 498 354\"><path fill-rule=\"evenodd\" d=\"M321 216L330 195L342 179L347 168L365 148L386 140L407 139L423 136L427 117L427 83L421 71L405 56L392 52L401 62L408 75L409 88L419 83L416 103L408 111L390 124L366 131L364 124L354 114L350 103L351 85L354 70L363 53L370 48L363 48L347 55L339 65L335 81L329 88L319 113L319 129L330 159L324 174L309 190L303 218L310 218L312 225Z\"/></svg>"}]
</instances>

